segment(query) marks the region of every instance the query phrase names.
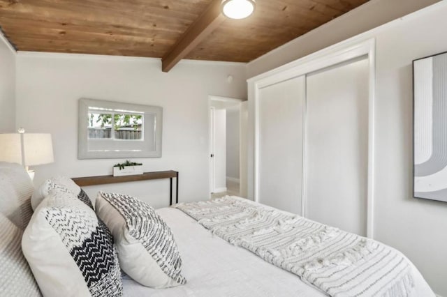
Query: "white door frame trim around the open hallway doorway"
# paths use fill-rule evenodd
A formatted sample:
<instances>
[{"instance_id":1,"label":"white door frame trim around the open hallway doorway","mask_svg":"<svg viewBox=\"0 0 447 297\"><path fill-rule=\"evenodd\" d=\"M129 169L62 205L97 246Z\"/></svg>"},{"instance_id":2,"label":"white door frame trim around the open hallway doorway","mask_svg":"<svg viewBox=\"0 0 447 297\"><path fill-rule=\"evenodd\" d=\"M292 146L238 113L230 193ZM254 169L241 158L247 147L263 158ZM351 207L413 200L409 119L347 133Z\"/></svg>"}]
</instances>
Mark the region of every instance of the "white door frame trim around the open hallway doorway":
<instances>
[{"instance_id":1,"label":"white door frame trim around the open hallway doorway","mask_svg":"<svg viewBox=\"0 0 447 297\"><path fill-rule=\"evenodd\" d=\"M242 102L244 100L239 98L230 98L230 97L222 97L222 96L208 96L208 158L210 158L210 169L209 169L209 186L210 186L210 197L211 193L214 192L216 188L215 183L215 159L211 158L211 155L214 154L215 150L215 116L212 114L212 110L214 110L214 107L212 107L212 101L219 101L219 102ZM213 122L212 122L213 121Z\"/></svg>"}]
</instances>

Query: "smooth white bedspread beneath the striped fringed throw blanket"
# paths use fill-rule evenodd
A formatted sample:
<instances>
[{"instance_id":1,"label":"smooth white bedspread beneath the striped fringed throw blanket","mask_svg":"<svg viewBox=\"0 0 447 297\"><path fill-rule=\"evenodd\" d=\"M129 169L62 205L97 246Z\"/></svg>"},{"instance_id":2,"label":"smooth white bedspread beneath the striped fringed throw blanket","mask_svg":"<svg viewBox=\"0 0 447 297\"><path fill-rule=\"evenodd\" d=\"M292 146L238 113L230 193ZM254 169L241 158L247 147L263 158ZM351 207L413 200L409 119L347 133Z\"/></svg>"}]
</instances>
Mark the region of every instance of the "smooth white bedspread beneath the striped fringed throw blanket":
<instances>
[{"instance_id":1,"label":"smooth white bedspread beneath the striped fringed throw blanket","mask_svg":"<svg viewBox=\"0 0 447 297\"><path fill-rule=\"evenodd\" d=\"M157 213L173 231L182 255L182 275L187 282L170 289L151 289L125 276L125 297L327 296L312 284L302 282L298 276L212 235L176 208L161 208ZM413 296L434 296L415 267L413 272L416 287Z\"/></svg>"}]
</instances>

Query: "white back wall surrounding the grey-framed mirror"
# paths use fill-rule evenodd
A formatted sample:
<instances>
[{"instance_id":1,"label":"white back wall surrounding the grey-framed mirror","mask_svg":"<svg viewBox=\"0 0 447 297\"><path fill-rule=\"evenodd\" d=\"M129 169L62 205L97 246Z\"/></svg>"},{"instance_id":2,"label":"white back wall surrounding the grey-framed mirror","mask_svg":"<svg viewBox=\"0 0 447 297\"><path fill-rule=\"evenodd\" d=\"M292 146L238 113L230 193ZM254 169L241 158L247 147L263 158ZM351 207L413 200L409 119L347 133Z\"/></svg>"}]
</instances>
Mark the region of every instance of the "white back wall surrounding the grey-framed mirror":
<instances>
[{"instance_id":1,"label":"white back wall surrounding the grey-framed mirror","mask_svg":"<svg viewBox=\"0 0 447 297\"><path fill-rule=\"evenodd\" d=\"M233 83L226 77L233 75ZM36 167L35 184L55 174L111 174L121 159L78 160L78 99L95 98L163 107L162 158L135 159L145 171L179 171L179 201L207 199L208 96L244 97L240 63L182 61L170 73L158 59L74 54L17 54L17 126L50 132L54 163ZM154 207L168 205L168 180L89 187L125 192Z\"/></svg>"}]
</instances>

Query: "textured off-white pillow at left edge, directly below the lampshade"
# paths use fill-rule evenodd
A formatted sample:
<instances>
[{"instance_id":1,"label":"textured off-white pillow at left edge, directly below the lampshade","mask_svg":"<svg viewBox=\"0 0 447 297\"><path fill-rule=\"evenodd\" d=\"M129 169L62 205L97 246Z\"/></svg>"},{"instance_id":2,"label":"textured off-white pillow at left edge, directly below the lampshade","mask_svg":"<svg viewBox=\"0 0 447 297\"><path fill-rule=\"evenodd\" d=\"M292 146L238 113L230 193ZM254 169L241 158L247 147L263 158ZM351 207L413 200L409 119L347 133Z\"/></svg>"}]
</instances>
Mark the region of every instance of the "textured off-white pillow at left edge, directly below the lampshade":
<instances>
[{"instance_id":1,"label":"textured off-white pillow at left edge, directly below the lampshade","mask_svg":"<svg viewBox=\"0 0 447 297\"><path fill-rule=\"evenodd\" d=\"M22 165L0 162L0 212L24 230L33 214L34 186Z\"/></svg>"}]
</instances>

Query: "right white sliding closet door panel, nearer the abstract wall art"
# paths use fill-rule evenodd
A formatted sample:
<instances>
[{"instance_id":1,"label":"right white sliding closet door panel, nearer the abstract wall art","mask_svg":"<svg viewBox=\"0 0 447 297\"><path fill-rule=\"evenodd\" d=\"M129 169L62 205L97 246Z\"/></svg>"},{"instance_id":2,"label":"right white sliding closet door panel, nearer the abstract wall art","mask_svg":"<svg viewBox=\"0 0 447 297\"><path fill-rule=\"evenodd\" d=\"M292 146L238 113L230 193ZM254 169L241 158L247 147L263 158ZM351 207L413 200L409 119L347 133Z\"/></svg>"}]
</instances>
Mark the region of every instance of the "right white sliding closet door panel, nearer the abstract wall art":
<instances>
[{"instance_id":1,"label":"right white sliding closet door panel, nearer the abstract wall art","mask_svg":"<svg viewBox=\"0 0 447 297\"><path fill-rule=\"evenodd\" d=\"M311 220L362 236L367 224L367 59L307 76L306 207Z\"/></svg>"}]
</instances>

